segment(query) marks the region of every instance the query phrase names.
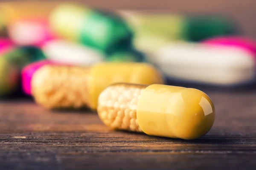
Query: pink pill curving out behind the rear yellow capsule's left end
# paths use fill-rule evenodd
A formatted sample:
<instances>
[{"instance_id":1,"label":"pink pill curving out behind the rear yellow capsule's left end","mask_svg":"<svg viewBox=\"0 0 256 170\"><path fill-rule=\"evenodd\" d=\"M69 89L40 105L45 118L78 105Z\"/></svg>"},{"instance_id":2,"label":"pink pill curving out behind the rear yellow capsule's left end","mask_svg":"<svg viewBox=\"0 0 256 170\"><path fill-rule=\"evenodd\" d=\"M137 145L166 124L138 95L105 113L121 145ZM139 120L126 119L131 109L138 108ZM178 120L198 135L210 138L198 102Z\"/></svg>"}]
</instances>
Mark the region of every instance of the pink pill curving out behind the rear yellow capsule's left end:
<instances>
[{"instance_id":1,"label":"pink pill curving out behind the rear yellow capsule's left end","mask_svg":"<svg viewBox=\"0 0 256 170\"><path fill-rule=\"evenodd\" d=\"M38 62L33 62L32 64L27 65L23 68L21 72L21 85L22 90L25 94L31 95L31 79L39 68L44 65L56 65L56 63L49 61L49 60L42 60Z\"/></svg>"}]
</instances>

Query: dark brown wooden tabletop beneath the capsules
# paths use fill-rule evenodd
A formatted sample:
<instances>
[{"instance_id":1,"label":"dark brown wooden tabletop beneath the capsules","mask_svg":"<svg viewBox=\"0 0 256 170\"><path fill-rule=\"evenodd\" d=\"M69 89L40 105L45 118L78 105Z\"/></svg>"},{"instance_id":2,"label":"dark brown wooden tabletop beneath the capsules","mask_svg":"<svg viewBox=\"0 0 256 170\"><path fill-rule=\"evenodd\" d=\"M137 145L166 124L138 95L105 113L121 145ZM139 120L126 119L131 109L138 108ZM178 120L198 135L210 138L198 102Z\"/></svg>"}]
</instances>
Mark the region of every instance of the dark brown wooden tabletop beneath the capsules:
<instances>
[{"instance_id":1,"label":"dark brown wooden tabletop beneath the capsules","mask_svg":"<svg viewBox=\"0 0 256 170\"><path fill-rule=\"evenodd\" d=\"M215 124L186 141L113 131L88 111L0 102L0 169L256 169L256 91L207 90Z\"/></svg>"}]
</instances>

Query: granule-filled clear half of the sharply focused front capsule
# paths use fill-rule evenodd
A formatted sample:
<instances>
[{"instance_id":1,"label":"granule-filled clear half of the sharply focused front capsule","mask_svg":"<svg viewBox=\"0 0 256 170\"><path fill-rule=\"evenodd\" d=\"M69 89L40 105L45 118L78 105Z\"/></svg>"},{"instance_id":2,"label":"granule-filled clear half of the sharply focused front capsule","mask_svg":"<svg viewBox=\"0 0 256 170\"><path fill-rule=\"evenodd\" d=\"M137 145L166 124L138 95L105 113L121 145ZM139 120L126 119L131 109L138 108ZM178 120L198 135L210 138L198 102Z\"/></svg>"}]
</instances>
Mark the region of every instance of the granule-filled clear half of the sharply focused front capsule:
<instances>
[{"instance_id":1,"label":"granule-filled clear half of the sharply focused front capsule","mask_svg":"<svg viewBox=\"0 0 256 170\"><path fill-rule=\"evenodd\" d=\"M137 104L147 85L116 84L99 96L98 114L114 129L142 132L137 121Z\"/></svg>"}]
</instances>

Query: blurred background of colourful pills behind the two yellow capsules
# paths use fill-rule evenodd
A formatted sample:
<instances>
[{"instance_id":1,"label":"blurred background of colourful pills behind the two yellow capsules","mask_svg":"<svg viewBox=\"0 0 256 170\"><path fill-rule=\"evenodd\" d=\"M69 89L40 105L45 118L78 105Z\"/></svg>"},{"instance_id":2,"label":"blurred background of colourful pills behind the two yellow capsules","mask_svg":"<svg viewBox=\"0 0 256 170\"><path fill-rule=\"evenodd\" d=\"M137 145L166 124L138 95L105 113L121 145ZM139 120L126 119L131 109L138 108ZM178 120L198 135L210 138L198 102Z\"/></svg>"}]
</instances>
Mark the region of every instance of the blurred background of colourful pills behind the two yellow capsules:
<instances>
[{"instance_id":1,"label":"blurred background of colourful pills behind the two yellow capsules","mask_svg":"<svg viewBox=\"0 0 256 170\"><path fill-rule=\"evenodd\" d=\"M0 1L0 96L19 89L32 95L33 74L44 65L93 68L101 62L153 65L169 85L254 85L255 5L253 0Z\"/></svg>"}]
</instances>

